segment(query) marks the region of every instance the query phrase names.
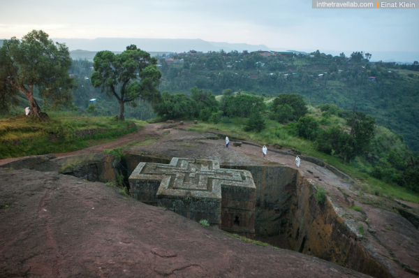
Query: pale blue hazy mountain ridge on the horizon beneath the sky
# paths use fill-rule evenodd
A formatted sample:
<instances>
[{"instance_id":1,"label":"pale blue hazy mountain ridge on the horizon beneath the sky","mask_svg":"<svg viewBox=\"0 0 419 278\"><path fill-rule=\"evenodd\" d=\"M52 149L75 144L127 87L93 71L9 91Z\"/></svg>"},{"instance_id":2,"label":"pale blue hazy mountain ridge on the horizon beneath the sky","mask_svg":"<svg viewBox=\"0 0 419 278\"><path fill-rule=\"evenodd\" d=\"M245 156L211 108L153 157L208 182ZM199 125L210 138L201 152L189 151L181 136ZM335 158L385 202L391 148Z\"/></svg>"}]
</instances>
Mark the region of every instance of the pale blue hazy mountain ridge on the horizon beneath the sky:
<instances>
[{"instance_id":1,"label":"pale blue hazy mountain ridge on the horizon beneath the sky","mask_svg":"<svg viewBox=\"0 0 419 278\"><path fill-rule=\"evenodd\" d=\"M52 38L53 41L66 43L69 50L88 50L88 51L124 51L126 46L134 44L142 50L148 52L187 52L196 51L219 51L226 52L237 50L242 52L268 50L266 45L249 45L247 43L216 43L197 39L184 38Z\"/></svg>"}]
</instances>

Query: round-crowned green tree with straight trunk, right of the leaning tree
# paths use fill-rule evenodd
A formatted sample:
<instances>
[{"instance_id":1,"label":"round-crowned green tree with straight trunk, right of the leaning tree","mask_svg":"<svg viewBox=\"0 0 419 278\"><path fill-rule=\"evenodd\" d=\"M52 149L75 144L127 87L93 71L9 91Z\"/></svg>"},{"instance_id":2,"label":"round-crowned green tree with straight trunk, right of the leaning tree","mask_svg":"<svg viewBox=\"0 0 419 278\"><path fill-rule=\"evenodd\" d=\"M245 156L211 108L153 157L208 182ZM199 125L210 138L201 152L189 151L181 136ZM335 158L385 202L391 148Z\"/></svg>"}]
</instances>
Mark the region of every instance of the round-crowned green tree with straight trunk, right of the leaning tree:
<instances>
[{"instance_id":1,"label":"round-crowned green tree with straight trunk, right of the leaning tree","mask_svg":"<svg viewBox=\"0 0 419 278\"><path fill-rule=\"evenodd\" d=\"M119 120L124 120L124 105L134 107L138 100L151 102L161 100L157 90L161 78L156 68L157 60L135 45L126 47L121 54L110 51L97 52L94 57L94 72L91 73L91 85L100 87L108 96L115 96L119 103Z\"/></svg>"}]
</instances>

